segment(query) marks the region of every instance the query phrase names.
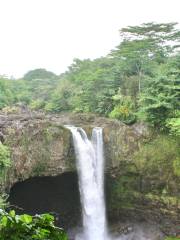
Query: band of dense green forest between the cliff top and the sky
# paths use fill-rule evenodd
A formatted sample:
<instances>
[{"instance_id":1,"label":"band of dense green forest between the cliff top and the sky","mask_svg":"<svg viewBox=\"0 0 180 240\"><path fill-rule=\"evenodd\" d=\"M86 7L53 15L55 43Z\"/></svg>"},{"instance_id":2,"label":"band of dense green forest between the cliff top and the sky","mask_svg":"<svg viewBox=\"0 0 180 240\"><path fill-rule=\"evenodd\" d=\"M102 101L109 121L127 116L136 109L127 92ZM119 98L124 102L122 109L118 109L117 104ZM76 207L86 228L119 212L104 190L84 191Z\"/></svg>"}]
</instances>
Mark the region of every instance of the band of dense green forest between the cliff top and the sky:
<instances>
[{"instance_id":1,"label":"band of dense green forest between the cliff top and the sky","mask_svg":"<svg viewBox=\"0 0 180 240\"><path fill-rule=\"evenodd\" d=\"M109 55L74 59L61 76L36 69L0 80L0 108L17 103L47 112L94 112L131 124L144 120L180 134L180 30L146 23L120 31Z\"/></svg>"}]
</instances>

